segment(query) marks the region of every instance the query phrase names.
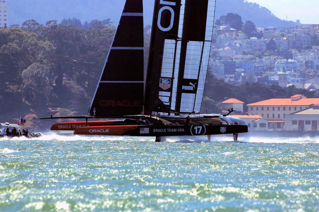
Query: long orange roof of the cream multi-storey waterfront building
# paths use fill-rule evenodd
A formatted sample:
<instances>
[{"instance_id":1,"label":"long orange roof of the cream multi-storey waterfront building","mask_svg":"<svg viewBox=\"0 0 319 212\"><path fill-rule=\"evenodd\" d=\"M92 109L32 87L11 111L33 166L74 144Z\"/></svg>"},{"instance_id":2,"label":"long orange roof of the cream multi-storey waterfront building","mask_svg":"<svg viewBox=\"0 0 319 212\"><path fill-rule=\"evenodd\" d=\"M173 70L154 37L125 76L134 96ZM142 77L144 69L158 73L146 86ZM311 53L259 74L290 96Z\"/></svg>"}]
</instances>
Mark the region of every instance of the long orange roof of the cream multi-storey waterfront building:
<instances>
[{"instance_id":1,"label":"long orange roof of the cream multi-storey waterfront building","mask_svg":"<svg viewBox=\"0 0 319 212\"><path fill-rule=\"evenodd\" d=\"M319 98L300 99L297 101L291 101L291 99L268 99L261 102L255 102L248 104L247 106L298 106L298 105L310 105L318 104Z\"/></svg>"}]
</instances>

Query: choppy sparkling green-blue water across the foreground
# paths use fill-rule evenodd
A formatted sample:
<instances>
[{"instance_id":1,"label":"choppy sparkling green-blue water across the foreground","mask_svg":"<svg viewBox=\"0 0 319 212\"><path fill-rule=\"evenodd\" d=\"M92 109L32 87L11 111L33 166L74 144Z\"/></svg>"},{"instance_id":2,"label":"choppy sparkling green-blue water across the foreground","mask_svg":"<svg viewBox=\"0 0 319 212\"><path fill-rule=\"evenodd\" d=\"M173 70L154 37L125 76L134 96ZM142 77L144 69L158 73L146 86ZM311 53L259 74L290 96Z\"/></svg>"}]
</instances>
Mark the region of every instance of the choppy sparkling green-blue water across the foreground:
<instances>
[{"instance_id":1,"label":"choppy sparkling green-blue water across the foreground","mask_svg":"<svg viewBox=\"0 0 319 212\"><path fill-rule=\"evenodd\" d=\"M0 211L319 210L319 138L231 140L0 140Z\"/></svg>"}]
</instances>

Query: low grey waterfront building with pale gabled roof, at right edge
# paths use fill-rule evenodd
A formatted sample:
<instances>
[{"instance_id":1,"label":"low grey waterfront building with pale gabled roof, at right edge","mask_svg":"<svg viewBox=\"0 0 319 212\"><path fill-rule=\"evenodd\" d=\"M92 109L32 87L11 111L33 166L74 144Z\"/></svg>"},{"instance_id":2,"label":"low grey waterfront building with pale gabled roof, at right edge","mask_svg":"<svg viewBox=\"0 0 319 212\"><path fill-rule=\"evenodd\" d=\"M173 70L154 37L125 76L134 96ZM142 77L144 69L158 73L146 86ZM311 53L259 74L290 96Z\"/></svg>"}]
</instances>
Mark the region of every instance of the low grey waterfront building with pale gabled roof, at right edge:
<instances>
[{"instance_id":1,"label":"low grey waterfront building with pale gabled roof, at right edge","mask_svg":"<svg viewBox=\"0 0 319 212\"><path fill-rule=\"evenodd\" d=\"M285 116L285 130L318 131L319 104L287 114Z\"/></svg>"}]
</instances>

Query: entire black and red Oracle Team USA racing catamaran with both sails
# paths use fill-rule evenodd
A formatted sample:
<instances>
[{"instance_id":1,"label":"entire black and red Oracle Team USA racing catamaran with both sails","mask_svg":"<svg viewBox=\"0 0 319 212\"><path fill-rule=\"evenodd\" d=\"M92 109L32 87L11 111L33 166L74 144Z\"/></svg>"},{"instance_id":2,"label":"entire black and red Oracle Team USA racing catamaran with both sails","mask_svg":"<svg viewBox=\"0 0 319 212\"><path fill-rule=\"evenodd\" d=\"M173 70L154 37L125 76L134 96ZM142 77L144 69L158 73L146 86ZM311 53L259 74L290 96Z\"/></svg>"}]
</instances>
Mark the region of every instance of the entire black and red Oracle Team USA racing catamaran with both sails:
<instances>
[{"instance_id":1,"label":"entire black and red Oracle Team USA racing catamaran with both sails","mask_svg":"<svg viewBox=\"0 0 319 212\"><path fill-rule=\"evenodd\" d=\"M85 119L54 124L76 135L204 136L248 132L228 114L200 114L216 0L156 0L144 79L143 0L126 0ZM213 83L213 82L211 82ZM98 121L88 121L96 119ZM114 119L114 120L104 120Z\"/></svg>"}]
</instances>

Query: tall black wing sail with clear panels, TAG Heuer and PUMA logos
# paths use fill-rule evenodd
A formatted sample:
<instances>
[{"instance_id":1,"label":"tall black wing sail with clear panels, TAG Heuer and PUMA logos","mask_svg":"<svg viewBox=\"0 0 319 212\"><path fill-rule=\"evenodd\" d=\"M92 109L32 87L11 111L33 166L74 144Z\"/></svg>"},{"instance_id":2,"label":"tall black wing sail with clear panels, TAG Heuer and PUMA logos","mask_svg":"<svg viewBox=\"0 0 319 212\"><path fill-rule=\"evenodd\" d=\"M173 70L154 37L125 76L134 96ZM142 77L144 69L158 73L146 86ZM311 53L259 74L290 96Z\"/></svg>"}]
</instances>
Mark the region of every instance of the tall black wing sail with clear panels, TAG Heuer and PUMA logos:
<instances>
[{"instance_id":1,"label":"tall black wing sail with clear panels, TAG Heuer and PUMA logos","mask_svg":"<svg viewBox=\"0 0 319 212\"><path fill-rule=\"evenodd\" d=\"M199 113L216 0L156 0L145 114Z\"/></svg>"}]
</instances>

